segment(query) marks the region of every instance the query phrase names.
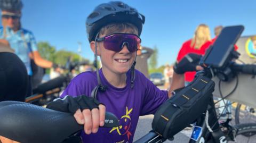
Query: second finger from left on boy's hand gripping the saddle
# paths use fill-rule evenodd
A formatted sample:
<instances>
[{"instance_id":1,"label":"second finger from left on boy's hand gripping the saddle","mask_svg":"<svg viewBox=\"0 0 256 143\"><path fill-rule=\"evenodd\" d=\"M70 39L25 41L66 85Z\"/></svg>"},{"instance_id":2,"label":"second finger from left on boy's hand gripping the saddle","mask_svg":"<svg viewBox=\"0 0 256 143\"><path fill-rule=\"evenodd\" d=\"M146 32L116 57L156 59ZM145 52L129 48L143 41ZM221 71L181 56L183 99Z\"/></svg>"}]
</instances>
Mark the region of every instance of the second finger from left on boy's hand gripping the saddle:
<instances>
[{"instance_id":1,"label":"second finger from left on boy's hand gripping the saddle","mask_svg":"<svg viewBox=\"0 0 256 143\"><path fill-rule=\"evenodd\" d=\"M92 132L92 114L89 109L85 109L82 111L82 114L84 116L84 132L86 134L91 134Z\"/></svg>"}]
</instances>

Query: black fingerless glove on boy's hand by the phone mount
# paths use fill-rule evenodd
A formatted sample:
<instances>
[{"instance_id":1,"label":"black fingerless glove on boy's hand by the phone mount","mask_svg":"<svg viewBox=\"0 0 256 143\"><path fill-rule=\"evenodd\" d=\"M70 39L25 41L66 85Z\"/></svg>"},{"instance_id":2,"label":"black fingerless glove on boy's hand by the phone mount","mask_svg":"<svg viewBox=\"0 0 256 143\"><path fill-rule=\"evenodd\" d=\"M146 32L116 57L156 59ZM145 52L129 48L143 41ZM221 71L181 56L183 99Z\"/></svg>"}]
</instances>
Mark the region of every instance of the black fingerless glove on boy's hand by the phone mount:
<instances>
[{"instance_id":1,"label":"black fingerless glove on boy's hand by the phone mount","mask_svg":"<svg viewBox=\"0 0 256 143\"><path fill-rule=\"evenodd\" d=\"M198 54L187 54L179 63L175 63L173 70L175 73L183 74L188 71L196 71L196 66L199 64L202 55Z\"/></svg>"}]
</instances>

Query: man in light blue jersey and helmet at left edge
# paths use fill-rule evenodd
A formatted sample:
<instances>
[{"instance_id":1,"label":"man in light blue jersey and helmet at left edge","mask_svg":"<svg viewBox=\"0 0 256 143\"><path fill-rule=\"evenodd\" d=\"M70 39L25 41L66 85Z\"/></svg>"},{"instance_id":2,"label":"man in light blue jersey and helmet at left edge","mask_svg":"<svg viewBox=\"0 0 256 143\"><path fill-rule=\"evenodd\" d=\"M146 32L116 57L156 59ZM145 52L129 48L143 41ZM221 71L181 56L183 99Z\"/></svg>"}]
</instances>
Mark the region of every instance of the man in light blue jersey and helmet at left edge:
<instances>
[{"instance_id":1,"label":"man in light blue jersey and helmet at left edge","mask_svg":"<svg viewBox=\"0 0 256 143\"><path fill-rule=\"evenodd\" d=\"M18 55L25 64L29 86L27 96L32 94L31 77L33 76L33 67L31 63L42 68L51 68L53 63L44 60L37 51L36 40L33 33L21 27L21 9L23 4L20 0L2 0L0 1L0 9L2 10L2 25L0 27L0 39L9 41L10 47L14 53Z\"/></svg>"}]
</instances>

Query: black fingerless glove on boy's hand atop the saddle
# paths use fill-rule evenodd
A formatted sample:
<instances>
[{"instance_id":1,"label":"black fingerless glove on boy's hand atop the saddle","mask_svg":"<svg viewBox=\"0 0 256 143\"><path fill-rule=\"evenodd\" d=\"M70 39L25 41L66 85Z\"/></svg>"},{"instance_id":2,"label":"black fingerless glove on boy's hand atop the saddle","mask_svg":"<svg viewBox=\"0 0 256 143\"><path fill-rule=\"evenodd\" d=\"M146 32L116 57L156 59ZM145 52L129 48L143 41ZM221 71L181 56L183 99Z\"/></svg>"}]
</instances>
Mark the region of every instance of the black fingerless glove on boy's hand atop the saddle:
<instances>
[{"instance_id":1,"label":"black fingerless glove on boy's hand atop the saddle","mask_svg":"<svg viewBox=\"0 0 256 143\"><path fill-rule=\"evenodd\" d=\"M53 102L46 106L46 108L61 112L70 112L74 114L79 108L81 110L92 110L93 108L98 108L100 104L102 103L100 103L98 100L85 95L80 95L77 97L66 96L63 99L54 99Z\"/></svg>"}]
</instances>

